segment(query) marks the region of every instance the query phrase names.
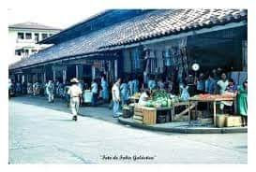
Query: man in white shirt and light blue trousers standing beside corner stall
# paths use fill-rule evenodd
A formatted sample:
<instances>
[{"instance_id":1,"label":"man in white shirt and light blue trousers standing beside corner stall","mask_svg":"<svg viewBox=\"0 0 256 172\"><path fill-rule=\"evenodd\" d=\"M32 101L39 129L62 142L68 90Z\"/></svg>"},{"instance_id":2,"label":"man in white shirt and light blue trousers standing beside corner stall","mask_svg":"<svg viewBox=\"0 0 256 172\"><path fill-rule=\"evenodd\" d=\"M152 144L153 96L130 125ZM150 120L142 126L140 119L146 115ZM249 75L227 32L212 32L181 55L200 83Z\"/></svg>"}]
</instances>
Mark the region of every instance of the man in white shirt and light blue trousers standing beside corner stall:
<instances>
[{"instance_id":1,"label":"man in white shirt and light blue trousers standing beside corner stall","mask_svg":"<svg viewBox=\"0 0 256 172\"><path fill-rule=\"evenodd\" d=\"M119 103L120 103L120 83L121 79L117 79L117 81L113 84L112 87L112 97L113 97L113 118L118 117Z\"/></svg>"}]
</instances>

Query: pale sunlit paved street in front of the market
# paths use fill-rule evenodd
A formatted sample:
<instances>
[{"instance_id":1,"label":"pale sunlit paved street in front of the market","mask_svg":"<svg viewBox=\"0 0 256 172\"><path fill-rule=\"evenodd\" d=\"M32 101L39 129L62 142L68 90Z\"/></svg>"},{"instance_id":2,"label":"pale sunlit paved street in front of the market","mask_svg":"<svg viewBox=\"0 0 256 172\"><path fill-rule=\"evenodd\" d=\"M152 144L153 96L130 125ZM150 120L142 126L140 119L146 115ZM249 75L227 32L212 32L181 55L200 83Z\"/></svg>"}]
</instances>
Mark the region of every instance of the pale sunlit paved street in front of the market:
<instances>
[{"instance_id":1,"label":"pale sunlit paved street in front of the market","mask_svg":"<svg viewBox=\"0 0 256 172\"><path fill-rule=\"evenodd\" d=\"M10 164L245 164L248 135L167 134L131 128L108 108L83 108L71 121L62 103L44 98L9 101ZM94 117L96 116L96 117ZM137 158L137 159L136 159Z\"/></svg>"}]
</instances>

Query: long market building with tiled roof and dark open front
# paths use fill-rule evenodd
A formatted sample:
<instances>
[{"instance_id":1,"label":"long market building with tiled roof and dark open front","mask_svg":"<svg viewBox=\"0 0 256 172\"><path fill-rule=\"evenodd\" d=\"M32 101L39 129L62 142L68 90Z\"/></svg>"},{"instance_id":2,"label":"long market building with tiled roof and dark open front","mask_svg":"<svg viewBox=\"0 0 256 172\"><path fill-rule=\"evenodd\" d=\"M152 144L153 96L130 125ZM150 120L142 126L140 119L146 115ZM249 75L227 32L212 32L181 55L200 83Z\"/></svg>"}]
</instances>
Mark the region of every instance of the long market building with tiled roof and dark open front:
<instances>
[{"instance_id":1,"label":"long market building with tiled roof and dark open front","mask_svg":"<svg viewBox=\"0 0 256 172\"><path fill-rule=\"evenodd\" d=\"M245 9L106 10L39 41L53 46L9 65L9 76L66 82L104 73L111 82L133 74L145 82L154 74L181 81L193 63L201 72L247 72L247 30Z\"/></svg>"}]
</instances>

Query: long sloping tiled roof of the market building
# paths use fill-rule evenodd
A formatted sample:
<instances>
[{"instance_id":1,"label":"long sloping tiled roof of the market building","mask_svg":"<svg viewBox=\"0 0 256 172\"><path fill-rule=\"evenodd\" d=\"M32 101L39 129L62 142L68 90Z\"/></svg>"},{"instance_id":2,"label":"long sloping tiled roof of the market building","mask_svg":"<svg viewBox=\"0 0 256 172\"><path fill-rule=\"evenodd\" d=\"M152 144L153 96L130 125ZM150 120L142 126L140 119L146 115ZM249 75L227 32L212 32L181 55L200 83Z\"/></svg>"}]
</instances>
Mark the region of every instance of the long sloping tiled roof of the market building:
<instances>
[{"instance_id":1,"label":"long sloping tiled roof of the market building","mask_svg":"<svg viewBox=\"0 0 256 172\"><path fill-rule=\"evenodd\" d=\"M158 9L113 24L86 36L80 36L31 55L10 65L19 68L100 49L130 44L159 36L170 36L203 27L240 22L247 19L245 9Z\"/></svg>"}]
</instances>

